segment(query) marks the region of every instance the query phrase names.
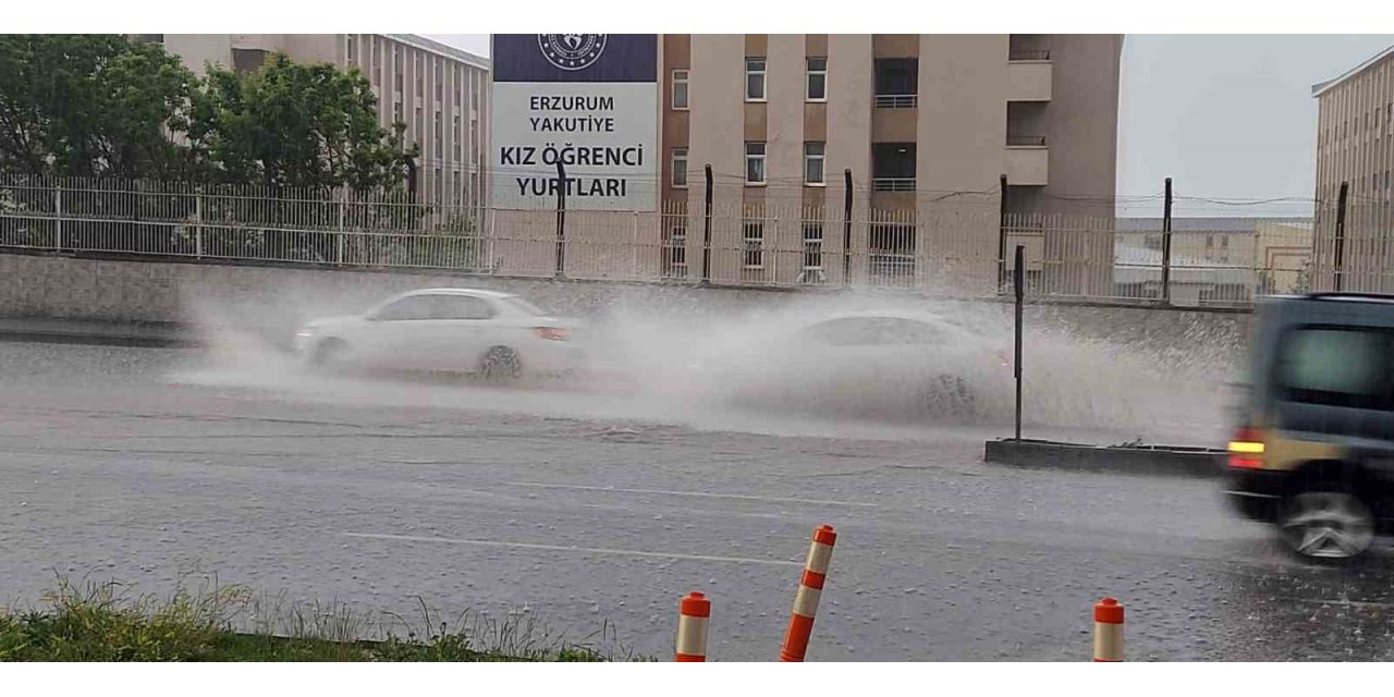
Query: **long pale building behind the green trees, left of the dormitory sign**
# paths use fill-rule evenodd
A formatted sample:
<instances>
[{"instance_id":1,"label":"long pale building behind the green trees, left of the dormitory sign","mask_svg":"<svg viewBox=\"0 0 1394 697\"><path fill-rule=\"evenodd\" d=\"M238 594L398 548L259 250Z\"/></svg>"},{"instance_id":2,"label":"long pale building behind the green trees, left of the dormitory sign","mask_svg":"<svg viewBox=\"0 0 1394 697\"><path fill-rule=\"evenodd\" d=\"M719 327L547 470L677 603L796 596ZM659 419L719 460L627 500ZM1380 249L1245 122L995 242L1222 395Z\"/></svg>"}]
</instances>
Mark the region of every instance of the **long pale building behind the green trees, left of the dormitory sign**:
<instances>
[{"instance_id":1,"label":"long pale building behind the green trees, left of the dormitory sign","mask_svg":"<svg viewBox=\"0 0 1394 697\"><path fill-rule=\"evenodd\" d=\"M195 72L209 63L254 70L275 50L297 61L358 68L378 96L383 128L406 124L420 145L417 197L474 205L484 199L488 151L489 61L410 33L155 33Z\"/></svg>"}]
</instances>

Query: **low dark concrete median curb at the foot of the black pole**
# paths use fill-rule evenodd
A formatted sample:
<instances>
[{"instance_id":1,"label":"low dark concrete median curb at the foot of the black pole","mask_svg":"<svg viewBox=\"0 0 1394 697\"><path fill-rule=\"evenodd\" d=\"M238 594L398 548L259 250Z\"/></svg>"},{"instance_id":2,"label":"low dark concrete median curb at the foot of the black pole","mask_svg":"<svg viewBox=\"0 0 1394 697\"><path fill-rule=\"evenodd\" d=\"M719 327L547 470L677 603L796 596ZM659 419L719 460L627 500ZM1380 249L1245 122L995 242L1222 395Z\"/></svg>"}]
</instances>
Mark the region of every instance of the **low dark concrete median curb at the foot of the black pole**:
<instances>
[{"instance_id":1,"label":"low dark concrete median curb at the foot of the black pole","mask_svg":"<svg viewBox=\"0 0 1394 697\"><path fill-rule=\"evenodd\" d=\"M1188 446L1097 446L1004 438L986 443L983 461L1153 477L1218 478L1224 474L1224 450Z\"/></svg>"}]
</instances>

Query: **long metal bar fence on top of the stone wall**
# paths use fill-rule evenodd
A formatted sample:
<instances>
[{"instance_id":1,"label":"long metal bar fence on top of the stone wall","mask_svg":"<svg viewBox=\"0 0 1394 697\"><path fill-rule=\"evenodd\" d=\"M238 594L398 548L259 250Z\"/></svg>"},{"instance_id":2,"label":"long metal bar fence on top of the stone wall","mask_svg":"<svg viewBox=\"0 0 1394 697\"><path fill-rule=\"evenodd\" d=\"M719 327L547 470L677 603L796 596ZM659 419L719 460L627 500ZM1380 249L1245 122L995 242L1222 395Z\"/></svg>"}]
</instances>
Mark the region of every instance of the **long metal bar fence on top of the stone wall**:
<instances>
[{"instance_id":1,"label":"long metal bar fence on top of the stone wall","mask_svg":"<svg viewBox=\"0 0 1394 697\"><path fill-rule=\"evenodd\" d=\"M739 195L710 212L697 199L560 215L348 191L0 177L0 250L990 297L1011 291L1023 245L1036 298L1242 307L1312 287L1303 219L1175 220L1167 231L1160 219L1004 215L981 201L860 205L846 216Z\"/></svg>"}]
</instances>

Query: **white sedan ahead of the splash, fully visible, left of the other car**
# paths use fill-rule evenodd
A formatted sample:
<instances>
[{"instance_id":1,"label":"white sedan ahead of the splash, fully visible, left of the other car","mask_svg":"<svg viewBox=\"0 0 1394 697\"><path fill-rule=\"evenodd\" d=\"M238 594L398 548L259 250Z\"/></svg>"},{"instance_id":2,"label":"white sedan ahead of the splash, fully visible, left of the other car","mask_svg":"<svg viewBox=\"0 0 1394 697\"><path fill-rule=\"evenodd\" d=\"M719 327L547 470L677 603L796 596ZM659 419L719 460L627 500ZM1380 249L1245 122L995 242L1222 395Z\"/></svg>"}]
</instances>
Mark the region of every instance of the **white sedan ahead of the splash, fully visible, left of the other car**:
<instances>
[{"instance_id":1,"label":"white sedan ahead of the splash, fully visible, left of the other car","mask_svg":"<svg viewBox=\"0 0 1394 697\"><path fill-rule=\"evenodd\" d=\"M361 314L309 322L296 351L311 365L477 374L512 381L580 368L574 322L509 293L425 289Z\"/></svg>"}]
</instances>

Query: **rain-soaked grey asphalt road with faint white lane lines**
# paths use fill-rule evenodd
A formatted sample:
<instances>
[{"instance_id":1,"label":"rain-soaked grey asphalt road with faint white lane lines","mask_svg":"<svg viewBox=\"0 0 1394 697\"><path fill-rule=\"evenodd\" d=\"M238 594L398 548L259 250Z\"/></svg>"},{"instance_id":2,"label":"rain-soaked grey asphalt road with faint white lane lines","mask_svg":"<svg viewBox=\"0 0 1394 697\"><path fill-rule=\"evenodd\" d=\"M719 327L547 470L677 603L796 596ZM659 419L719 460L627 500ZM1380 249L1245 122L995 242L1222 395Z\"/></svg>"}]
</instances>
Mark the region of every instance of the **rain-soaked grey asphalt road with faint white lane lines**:
<instances>
[{"instance_id":1,"label":"rain-soaked grey asphalt road with faint white lane lines","mask_svg":"<svg viewBox=\"0 0 1394 697\"><path fill-rule=\"evenodd\" d=\"M1295 563L1213 481L986 466L970 429L645 421L577 395L311 389L202 361L0 343L4 599L54 573L163 592L216 572L406 616L418 597L526 606L573 638L608 622L666 658L677 597L703 590L711 657L764 661L829 523L810 661L1085 661L1103 595L1128 606L1129 659L1394 647L1394 555Z\"/></svg>"}]
</instances>

